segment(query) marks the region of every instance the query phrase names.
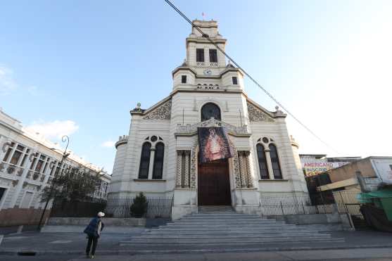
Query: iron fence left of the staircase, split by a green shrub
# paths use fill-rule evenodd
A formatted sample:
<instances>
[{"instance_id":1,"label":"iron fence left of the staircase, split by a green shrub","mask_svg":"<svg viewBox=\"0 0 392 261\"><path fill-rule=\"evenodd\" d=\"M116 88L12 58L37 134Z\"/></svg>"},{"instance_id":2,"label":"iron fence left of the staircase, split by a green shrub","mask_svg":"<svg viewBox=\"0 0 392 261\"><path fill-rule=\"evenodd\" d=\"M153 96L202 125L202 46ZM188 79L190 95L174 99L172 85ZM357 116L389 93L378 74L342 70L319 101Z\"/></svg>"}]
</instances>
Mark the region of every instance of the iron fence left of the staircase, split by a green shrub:
<instances>
[{"instance_id":1,"label":"iron fence left of the staircase, split by a green shrub","mask_svg":"<svg viewBox=\"0 0 392 261\"><path fill-rule=\"evenodd\" d=\"M146 197L146 217L170 217L172 214L172 197ZM113 217L131 217L130 208L134 197L109 198L106 213Z\"/></svg>"}]
</instances>

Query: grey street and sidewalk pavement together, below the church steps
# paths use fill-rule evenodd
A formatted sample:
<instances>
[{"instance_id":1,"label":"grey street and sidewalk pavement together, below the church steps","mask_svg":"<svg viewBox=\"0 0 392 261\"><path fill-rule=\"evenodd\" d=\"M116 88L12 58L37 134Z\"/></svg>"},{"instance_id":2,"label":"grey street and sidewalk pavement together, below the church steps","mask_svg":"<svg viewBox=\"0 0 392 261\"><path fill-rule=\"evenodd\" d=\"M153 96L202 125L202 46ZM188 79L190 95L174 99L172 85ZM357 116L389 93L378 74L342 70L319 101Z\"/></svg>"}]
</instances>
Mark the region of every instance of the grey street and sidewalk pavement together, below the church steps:
<instances>
[{"instance_id":1,"label":"grey street and sidewalk pavement together, below the church steps","mask_svg":"<svg viewBox=\"0 0 392 261\"><path fill-rule=\"evenodd\" d=\"M143 231L141 229L140 231ZM140 233L135 231L132 235ZM331 233L334 237L345 238L339 245L329 243L319 246L317 243L289 244L287 246L253 246L248 250L215 248L178 249L177 253L143 252L129 250L120 246L120 241L129 240L130 234L103 234L99 240L95 260L392 260L392 234L379 231L340 231ZM86 260L83 255L86 238L82 233L37 233L25 232L4 236L0 246L0 260ZM258 247L258 248L256 248ZM314 248L314 249L306 249ZM318 250L317 250L318 248ZM335 248L335 249L320 249ZM19 256L17 253L31 251L34 256Z\"/></svg>"}]
</instances>

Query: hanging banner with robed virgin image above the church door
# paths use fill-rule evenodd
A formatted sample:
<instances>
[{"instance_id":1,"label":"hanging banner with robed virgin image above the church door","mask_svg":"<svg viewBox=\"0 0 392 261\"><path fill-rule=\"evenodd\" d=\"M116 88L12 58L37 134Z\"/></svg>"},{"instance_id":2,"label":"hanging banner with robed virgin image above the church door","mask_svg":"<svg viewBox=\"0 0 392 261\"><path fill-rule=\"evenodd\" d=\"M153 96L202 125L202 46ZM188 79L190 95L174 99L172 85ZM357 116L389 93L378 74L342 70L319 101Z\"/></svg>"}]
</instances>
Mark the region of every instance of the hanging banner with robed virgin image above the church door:
<instances>
[{"instance_id":1,"label":"hanging banner with robed virgin image above the church door","mask_svg":"<svg viewBox=\"0 0 392 261\"><path fill-rule=\"evenodd\" d=\"M229 139L223 127L199 127L198 148L200 163L233 157Z\"/></svg>"}]
</instances>

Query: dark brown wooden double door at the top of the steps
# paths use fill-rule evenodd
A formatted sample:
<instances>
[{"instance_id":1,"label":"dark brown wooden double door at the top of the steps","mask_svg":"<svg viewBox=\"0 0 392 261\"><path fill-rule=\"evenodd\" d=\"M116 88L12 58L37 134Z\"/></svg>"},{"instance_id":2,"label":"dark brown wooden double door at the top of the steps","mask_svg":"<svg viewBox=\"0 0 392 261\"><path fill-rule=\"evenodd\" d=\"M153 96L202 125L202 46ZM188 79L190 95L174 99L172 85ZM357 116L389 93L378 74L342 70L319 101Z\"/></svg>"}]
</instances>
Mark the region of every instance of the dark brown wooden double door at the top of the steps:
<instances>
[{"instance_id":1,"label":"dark brown wooden double door at the top of the steps","mask_svg":"<svg viewBox=\"0 0 392 261\"><path fill-rule=\"evenodd\" d=\"M229 163L215 160L198 165L198 205L231 205Z\"/></svg>"}]
</instances>

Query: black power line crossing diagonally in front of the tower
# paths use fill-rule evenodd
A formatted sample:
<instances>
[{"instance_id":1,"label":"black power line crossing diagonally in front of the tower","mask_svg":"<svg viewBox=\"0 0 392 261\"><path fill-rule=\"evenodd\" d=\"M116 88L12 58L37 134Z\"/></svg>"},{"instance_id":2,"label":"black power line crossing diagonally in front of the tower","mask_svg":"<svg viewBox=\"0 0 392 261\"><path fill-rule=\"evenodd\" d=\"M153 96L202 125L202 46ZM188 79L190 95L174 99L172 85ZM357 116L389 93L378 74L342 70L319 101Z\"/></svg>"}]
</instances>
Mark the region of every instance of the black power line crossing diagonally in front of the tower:
<instances>
[{"instance_id":1,"label":"black power line crossing diagonally in front of the tower","mask_svg":"<svg viewBox=\"0 0 392 261\"><path fill-rule=\"evenodd\" d=\"M327 147L331 148L333 151L335 151L336 153L338 153L338 151L336 151L334 148L332 148L331 146L329 146L329 144L327 144L327 142L323 141L319 136L317 136L315 134L315 132L312 132L312 130L310 128L308 128L305 124L303 124L303 122L301 122L301 120L299 120L296 116L293 115L293 113L290 113L290 111L288 109L286 109L285 106L283 106L282 103L280 103L279 101L277 101L276 98L274 98L274 96L272 96L272 94L270 94L270 92L268 92L263 86L261 86L255 79L253 79L253 77L251 77L251 75L248 74L248 72L246 72L246 70L244 70L238 63L236 63L236 61L234 61L233 58L231 58L225 51L223 51L219 46L217 46L217 44L215 44L215 42L213 42L212 39L210 39L210 37L208 36L208 34L205 34L197 25L195 25L191 20L189 20L189 18L186 17L186 15L184 15L184 13L182 13L182 11L179 11L179 9L172 4L172 2L170 2L169 0L165 0L165 2L171 6L173 9L175 9L175 11L177 13L179 13L179 15L182 16L182 18L184 18L189 24L192 25L192 27L195 27L196 30L198 30L198 32L201 33L202 37L208 39L208 41L213 44L221 53L223 53L223 55L225 55L229 61L231 61L232 63L234 63L234 65L236 65L237 68L239 68L242 72L244 72L244 75L248 76L249 79L251 79L251 81L256 84L260 89L262 89L265 94L267 94L267 96L269 96L272 101L274 101L275 103L277 103L277 105L279 105L283 110L286 110L286 113L289 114L291 117L293 117L294 120L296 120L296 122L298 122L302 127L304 127L308 132L310 132L310 134L312 134L313 136L315 136L319 141L321 141L324 145L326 145Z\"/></svg>"}]
</instances>

